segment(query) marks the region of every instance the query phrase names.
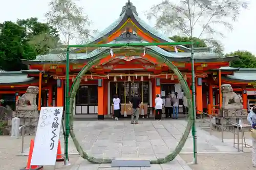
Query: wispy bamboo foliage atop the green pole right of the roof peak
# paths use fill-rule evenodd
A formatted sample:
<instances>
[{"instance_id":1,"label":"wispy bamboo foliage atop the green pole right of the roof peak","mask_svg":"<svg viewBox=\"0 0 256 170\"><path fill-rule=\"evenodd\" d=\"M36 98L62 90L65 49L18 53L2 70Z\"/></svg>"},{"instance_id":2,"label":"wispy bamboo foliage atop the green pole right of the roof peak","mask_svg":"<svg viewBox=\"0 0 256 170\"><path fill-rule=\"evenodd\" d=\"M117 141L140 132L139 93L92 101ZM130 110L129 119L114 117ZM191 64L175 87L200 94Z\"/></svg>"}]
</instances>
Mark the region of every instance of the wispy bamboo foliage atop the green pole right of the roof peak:
<instances>
[{"instance_id":1,"label":"wispy bamboo foliage atop the green pole right of the roof peak","mask_svg":"<svg viewBox=\"0 0 256 170\"><path fill-rule=\"evenodd\" d=\"M179 3L164 0L151 7L147 18L155 18L158 29L173 34L198 38L204 35L207 37L204 41L221 53L223 47L215 37L224 36L223 26L232 30L231 22L237 21L241 10L247 6L244 0L180 0Z\"/></svg>"}]
</instances>

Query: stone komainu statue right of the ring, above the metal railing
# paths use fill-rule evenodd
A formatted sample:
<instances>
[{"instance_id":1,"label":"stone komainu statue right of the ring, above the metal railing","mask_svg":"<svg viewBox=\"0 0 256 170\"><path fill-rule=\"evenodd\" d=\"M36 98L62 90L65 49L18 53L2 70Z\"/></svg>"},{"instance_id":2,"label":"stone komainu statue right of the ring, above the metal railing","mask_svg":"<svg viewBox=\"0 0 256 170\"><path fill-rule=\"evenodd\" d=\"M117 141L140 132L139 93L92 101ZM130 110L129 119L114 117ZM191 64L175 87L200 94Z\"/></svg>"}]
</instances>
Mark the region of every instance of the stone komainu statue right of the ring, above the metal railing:
<instances>
[{"instance_id":1,"label":"stone komainu statue right of the ring, above the metal railing","mask_svg":"<svg viewBox=\"0 0 256 170\"><path fill-rule=\"evenodd\" d=\"M222 109L243 109L242 97L233 91L230 84L222 84L221 90L223 94Z\"/></svg>"}]
</instances>

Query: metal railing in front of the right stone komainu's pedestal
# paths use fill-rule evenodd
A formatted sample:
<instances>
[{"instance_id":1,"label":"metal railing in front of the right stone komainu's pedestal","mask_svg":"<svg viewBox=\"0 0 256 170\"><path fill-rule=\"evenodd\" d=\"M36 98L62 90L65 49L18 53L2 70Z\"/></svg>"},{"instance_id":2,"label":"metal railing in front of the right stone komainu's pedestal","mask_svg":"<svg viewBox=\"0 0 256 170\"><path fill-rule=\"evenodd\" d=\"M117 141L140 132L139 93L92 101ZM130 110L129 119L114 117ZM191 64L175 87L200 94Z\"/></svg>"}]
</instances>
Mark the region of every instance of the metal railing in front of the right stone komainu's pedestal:
<instances>
[{"instance_id":1,"label":"metal railing in front of the right stone komainu's pedestal","mask_svg":"<svg viewBox=\"0 0 256 170\"><path fill-rule=\"evenodd\" d=\"M251 148L245 140L244 127L241 124L231 122L230 120L223 117L216 117L215 114L208 114L202 111L197 111L201 113L197 118L201 120L201 123L209 124L210 135L214 128L221 130L221 142L224 142L224 131L233 133L233 147L238 149L238 152L242 151L243 148ZM216 124L216 119L219 119L220 124ZM240 134L241 133L241 134ZM240 149L241 145L241 149ZM237 147L236 147L237 146Z\"/></svg>"}]
</instances>

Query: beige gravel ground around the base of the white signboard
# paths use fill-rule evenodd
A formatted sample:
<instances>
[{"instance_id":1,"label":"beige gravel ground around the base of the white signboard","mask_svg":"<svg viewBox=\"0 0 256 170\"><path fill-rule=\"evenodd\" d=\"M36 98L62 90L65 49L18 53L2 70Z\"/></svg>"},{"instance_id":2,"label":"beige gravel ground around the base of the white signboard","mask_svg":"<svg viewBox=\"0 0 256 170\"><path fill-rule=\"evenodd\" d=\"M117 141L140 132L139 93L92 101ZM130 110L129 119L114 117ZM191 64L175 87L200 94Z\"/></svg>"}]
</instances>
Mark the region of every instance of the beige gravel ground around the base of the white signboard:
<instances>
[{"instance_id":1,"label":"beige gravel ground around the base of the white signboard","mask_svg":"<svg viewBox=\"0 0 256 170\"><path fill-rule=\"evenodd\" d=\"M33 136L24 138L24 148L29 147L29 143ZM16 156L21 151L21 139L14 139L11 136L0 136L0 170L19 170L27 165L26 156ZM74 164L79 156L70 156L70 163ZM71 166L62 166L62 162L56 164L56 169L68 170ZM53 169L52 167L44 167L45 170Z\"/></svg>"}]
</instances>

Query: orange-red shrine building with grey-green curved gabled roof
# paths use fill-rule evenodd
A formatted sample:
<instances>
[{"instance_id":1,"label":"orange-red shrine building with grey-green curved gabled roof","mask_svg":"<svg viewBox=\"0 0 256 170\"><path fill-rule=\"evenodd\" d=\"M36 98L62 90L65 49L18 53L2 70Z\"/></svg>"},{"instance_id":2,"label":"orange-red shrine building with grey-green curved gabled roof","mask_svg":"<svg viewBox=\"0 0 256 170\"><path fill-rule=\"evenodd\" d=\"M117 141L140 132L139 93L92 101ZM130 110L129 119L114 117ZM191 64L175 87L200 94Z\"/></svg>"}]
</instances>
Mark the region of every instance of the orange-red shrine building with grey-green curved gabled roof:
<instances>
[{"instance_id":1,"label":"orange-red shrine building with grey-green curved gabled roof","mask_svg":"<svg viewBox=\"0 0 256 170\"><path fill-rule=\"evenodd\" d=\"M120 16L94 37L90 44L174 42L140 19L136 7L128 2ZM254 105L256 69L232 68L229 64L239 56L225 57L212 52L210 47L195 48L196 108L218 114L222 105L221 84L231 84L242 95L244 108ZM127 106L134 93L141 96L144 113L152 112L155 96L161 98L178 92L179 112L184 112L182 88L177 76L159 55L172 61L182 72L191 87L191 49L183 46L123 46L71 48L70 87L77 74L93 58L104 55L81 80L75 98L74 117L104 119L113 113L112 99L117 93L121 100L121 115L131 115ZM0 99L15 109L15 100L26 92L28 86L38 86L38 110L42 106L65 106L66 48L55 49L50 54L34 60L22 60L28 70L0 72ZM154 112L154 111L153 111ZM151 113L152 114L152 113Z\"/></svg>"}]
</instances>

